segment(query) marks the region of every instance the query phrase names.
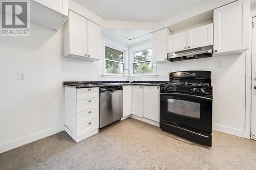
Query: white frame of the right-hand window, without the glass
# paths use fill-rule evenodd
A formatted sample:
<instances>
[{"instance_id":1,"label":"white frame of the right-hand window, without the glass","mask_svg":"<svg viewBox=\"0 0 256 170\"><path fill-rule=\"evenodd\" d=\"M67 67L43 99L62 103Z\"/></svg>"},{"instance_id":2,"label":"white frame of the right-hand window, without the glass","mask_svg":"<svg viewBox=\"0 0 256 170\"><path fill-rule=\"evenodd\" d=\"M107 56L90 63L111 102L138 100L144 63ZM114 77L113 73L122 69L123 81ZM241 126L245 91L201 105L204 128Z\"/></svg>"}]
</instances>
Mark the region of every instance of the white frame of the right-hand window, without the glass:
<instances>
[{"instance_id":1,"label":"white frame of the right-hand window, without the glass","mask_svg":"<svg viewBox=\"0 0 256 170\"><path fill-rule=\"evenodd\" d=\"M138 62L134 62L134 57L135 57L135 53L139 52L139 51L143 51L143 50L152 50L152 46L151 45L145 45L145 46L139 46L137 48L133 48L131 50L131 68L132 68L132 76L136 77L136 76L156 76L156 64L154 62L152 62L152 58L151 60L145 60L145 61L138 61ZM134 64L136 63L144 63L144 62L151 62L153 64L153 72L152 73L145 73L145 74L134 74Z\"/></svg>"}]
</instances>

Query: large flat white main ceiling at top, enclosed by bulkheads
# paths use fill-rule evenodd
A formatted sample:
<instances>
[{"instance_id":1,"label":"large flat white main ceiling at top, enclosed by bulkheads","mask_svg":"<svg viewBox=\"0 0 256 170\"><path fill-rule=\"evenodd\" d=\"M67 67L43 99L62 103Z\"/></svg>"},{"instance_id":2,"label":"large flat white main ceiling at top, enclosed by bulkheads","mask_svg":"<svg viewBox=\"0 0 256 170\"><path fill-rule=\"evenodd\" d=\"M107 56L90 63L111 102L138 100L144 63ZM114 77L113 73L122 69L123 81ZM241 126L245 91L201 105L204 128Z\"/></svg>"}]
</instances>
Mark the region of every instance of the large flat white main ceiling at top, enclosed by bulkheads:
<instances>
[{"instance_id":1,"label":"large flat white main ceiling at top, enclosed by bulkheads","mask_svg":"<svg viewBox=\"0 0 256 170\"><path fill-rule=\"evenodd\" d=\"M74 0L109 20L159 22L207 1L216 0Z\"/></svg>"}]
</instances>

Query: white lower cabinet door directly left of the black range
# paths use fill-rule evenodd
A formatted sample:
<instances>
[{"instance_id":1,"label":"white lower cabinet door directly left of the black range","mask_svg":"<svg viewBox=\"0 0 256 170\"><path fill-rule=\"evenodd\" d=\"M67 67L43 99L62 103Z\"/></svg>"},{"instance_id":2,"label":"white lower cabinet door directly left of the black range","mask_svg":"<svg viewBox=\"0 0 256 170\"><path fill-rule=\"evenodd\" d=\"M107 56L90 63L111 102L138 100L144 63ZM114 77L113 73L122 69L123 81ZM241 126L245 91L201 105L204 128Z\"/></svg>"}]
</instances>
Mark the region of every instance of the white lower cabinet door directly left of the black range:
<instances>
[{"instance_id":1,"label":"white lower cabinet door directly left of the black range","mask_svg":"<svg viewBox=\"0 0 256 170\"><path fill-rule=\"evenodd\" d=\"M143 117L159 122L159 87L144 86Z\"/></svg>"}]
</instances>

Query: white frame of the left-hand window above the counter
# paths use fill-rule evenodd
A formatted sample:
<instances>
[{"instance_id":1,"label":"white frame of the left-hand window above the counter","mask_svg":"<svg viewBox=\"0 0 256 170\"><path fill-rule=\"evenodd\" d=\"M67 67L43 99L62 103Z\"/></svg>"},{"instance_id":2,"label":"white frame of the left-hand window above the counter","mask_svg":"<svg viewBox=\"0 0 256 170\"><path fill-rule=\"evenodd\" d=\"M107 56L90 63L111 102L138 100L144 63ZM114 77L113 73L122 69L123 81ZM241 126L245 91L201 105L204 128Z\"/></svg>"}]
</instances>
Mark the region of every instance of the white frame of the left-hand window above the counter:
<instances>
[{"instance_id":1,"label":"white frame of the left-hand window above the counter","mask_svg":"<svg viewBox=\"0 0 256 170\"><path fill-rule=\"evenodd\" d=\"M114 50L122 52L123 53L123 62L106 59L105 58L105 47L106 46L109 47L109 48L112 48ZM121 64L124 64L123 65L123 70L124 70L126 68L125 55L126 55L126 49L124 47L121 47L120 45L117 45L117 44L105 41L104 44L103 44L103 58L104 58L104 60L103 60L103 76L123 77L123 74L106 73L106 65L105 64L106 64L106 61L112 61L112 62L121 63Z\"/></svg>"}]
</instances>

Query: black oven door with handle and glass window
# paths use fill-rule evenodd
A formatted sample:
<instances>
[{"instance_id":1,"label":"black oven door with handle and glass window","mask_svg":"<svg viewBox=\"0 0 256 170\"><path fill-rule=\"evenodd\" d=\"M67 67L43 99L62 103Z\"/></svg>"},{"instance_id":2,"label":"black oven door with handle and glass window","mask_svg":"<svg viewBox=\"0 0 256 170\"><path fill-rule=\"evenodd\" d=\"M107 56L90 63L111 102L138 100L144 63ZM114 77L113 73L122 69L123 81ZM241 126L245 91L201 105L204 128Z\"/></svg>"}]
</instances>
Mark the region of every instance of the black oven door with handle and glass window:
<instances>
[{"instance_id":1,"label":"black oven door with handle and glass window","mask_svg":"<svg viewBox=\"0 0 256 170\"><path fill-rule=\"evenodd\" d=\"M212 96L160 92L160 119L211 133Z\"/></svg>"}]
</instances>

